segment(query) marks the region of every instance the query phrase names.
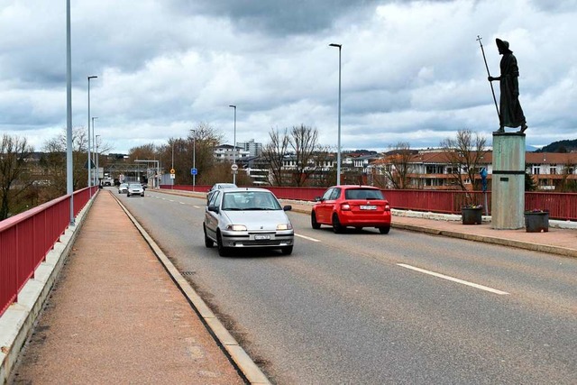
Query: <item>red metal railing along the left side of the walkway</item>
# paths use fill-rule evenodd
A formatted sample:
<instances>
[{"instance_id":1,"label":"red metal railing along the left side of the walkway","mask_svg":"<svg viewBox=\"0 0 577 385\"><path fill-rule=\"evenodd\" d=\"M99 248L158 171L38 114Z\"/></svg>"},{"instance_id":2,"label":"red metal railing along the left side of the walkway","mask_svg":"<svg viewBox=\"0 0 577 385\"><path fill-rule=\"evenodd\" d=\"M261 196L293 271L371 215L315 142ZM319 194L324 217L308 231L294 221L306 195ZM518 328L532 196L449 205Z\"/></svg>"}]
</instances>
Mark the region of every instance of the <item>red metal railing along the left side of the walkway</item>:
<instances>
[{"instance_id":1,"label":"red metal railing along the left side of the walkway","mask_svg":"<svg viewBox=\"0 0 577 385\"><path fill-rule=\"evenodd\" d=\"M77 216L96 187L75 191ZM0 222L0 316L70 225L70 196L59 197Z\"/></svg>"}]
</instances>

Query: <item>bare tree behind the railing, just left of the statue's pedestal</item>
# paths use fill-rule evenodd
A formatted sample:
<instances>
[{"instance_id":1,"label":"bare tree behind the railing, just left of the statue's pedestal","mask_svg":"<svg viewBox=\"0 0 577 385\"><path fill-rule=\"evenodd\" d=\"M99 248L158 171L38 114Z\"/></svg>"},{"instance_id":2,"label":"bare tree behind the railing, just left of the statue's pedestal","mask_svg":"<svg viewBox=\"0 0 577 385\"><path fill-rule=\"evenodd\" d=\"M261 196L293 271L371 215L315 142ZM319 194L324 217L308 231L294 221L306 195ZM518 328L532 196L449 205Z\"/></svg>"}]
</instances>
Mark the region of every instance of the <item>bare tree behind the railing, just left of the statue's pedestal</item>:
<instances>
[{"instance_id":1,"label":"bare tree behind the railing, just left of the statue's pedestal","mask_svg":"<svg viewBox=\"0 0 577 385\"><path fill-rule=\"evenodd\" d=\"M449 164L448 173L453 182L463 191L468 190L467 182L473 190L481 188L481 179L477 178L481 170L483 157L488 153L486 139L471 130L459 130L456 138L447 138L441 142L441 148Z\"/></svg>"}]
</instances>

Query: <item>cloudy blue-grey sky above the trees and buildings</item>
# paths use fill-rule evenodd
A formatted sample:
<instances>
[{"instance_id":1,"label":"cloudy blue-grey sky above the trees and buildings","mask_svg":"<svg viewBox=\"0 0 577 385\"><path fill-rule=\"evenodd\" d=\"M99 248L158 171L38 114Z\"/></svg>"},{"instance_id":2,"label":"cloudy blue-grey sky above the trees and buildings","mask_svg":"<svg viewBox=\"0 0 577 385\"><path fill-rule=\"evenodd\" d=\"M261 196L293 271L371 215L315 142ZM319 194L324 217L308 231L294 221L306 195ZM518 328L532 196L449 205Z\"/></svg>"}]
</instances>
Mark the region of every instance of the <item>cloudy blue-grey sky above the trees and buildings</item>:
<instances>
[{"instance_id":1,"label":"cloudy blue-grey sky above the trees and buildings","mask_svg":"<svg viewBox=\"0 0 577 385\"><path fill-rule=\"evenodd\" d=\"M527 144L577 139L577 0L71 0L73 126L112 152L200 123L232 144L316 127L343 150L435 147L499 120L495 38L520 69ZM499 99L499 84L494 83ZM0 0L0 131L40 151L66 127L66 2ZM512 129L509 129L512 130ZM512 130L514 131L514 130Z\"/></svg>"}]
</instances>

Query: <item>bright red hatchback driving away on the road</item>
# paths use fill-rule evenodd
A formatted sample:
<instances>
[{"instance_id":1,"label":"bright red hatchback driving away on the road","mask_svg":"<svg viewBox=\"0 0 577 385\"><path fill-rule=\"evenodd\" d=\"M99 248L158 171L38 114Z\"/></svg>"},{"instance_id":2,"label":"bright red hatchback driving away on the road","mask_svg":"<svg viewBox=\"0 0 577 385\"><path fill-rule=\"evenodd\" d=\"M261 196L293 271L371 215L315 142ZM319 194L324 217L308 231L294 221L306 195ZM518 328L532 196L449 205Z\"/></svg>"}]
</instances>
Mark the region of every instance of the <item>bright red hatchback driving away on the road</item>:
<instances>
[{"instance_id":1,"label":"bright red hatchback driving away on the road","mask_svg":"<svg viewBox=\"0 0 577 385\"><path fill-rule=\"evenodd\" d=\"M390 206L380 188L371 186L333 186L323 197L316 197L316 204L310 213L310 223L314 229L321 225L332 225L334 233L341 233L344 227L376 227L380 234L389 234Z\"/></svg>"}]
</instances>

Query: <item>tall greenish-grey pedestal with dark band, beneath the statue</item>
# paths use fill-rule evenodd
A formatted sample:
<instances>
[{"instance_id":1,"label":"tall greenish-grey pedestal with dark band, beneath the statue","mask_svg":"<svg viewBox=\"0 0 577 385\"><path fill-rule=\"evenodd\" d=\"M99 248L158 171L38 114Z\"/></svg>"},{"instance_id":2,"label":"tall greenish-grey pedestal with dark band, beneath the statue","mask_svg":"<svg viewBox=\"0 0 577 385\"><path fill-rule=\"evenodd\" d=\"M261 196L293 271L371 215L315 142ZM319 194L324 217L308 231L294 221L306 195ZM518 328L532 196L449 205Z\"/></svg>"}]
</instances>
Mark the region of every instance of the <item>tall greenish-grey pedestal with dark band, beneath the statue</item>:
<instances>
[{"instance_id":1,"label":"tall greenish-grey pedestal with dark band, beneath the statue","mask_svg":"<svg viewBox=\"0 0 577 385\"><path fill-rule=\"evenodd\" d=\"M493 133L491 226L525 226L525 133Z\"/></svg>"}]
</instances>

